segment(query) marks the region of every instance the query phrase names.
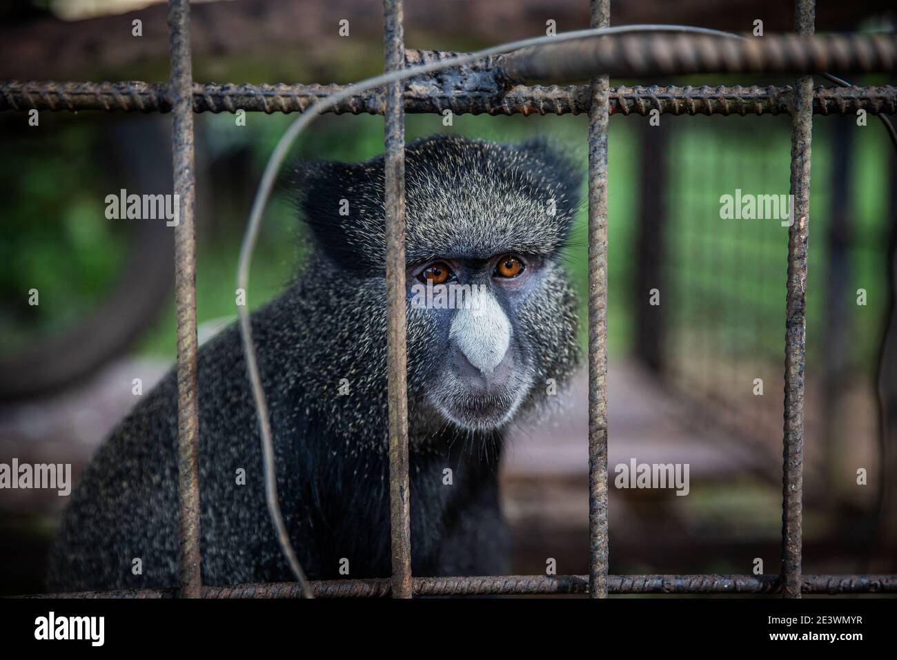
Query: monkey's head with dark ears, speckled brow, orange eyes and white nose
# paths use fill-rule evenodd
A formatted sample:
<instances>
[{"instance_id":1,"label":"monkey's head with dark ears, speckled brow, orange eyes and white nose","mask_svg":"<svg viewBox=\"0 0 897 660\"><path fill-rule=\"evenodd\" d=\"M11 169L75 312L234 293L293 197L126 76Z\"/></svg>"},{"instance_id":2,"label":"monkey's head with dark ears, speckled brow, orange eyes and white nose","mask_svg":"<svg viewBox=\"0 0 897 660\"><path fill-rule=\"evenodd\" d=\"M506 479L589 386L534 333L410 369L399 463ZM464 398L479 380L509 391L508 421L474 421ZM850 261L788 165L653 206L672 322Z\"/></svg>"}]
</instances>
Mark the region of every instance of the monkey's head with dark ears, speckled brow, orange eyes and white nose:
<instances>
[{"instance_id":1,"label":"monkey's head with dark ears, speckled brow, orange eyes and white nose","mask_svg":"<svg viewBox=\"0 0 897 660\"><path fill-rule=\"evenodd\" d=\"M405 154L409 410L433 424L501 427L557 392L577 363L575 298L559 257L581 175L541 141L431 136ZM374 358L377 378L348 380L382 391L383 157L308 164L298 182L321 263L352 292L340 323L353 328L344 335L353 347L341 368Z\"/></svg>"}]
</instances>

